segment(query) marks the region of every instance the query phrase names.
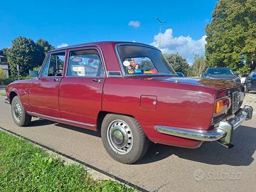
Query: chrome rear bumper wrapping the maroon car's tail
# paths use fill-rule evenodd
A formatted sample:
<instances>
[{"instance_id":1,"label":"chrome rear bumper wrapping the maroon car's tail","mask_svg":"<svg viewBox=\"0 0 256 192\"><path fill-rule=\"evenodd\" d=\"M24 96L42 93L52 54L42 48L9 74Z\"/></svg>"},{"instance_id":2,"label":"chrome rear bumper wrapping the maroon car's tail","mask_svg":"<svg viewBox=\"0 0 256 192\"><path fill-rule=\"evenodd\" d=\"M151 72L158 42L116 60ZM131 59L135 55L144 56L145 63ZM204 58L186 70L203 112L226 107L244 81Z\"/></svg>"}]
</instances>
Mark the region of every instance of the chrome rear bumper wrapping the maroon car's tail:
<instances>
[{"instance_id":1,"label":"chrome rear bumper wrapping the maroon car's tail","mask_svg":"<svg viewBox=\"0 0 256 192\"><path fill-rule=\"evenodd\" d=\"M220 122L219 126L211 130L185 129L178 127L156 126L157 132L169 134L186 139L194 139L203 142L218 141L221 144L230 144L233 137L233 130L245 121L252 119L252 107L245 105L240 112L227 122Z\"/></svg>"}]
</instances>

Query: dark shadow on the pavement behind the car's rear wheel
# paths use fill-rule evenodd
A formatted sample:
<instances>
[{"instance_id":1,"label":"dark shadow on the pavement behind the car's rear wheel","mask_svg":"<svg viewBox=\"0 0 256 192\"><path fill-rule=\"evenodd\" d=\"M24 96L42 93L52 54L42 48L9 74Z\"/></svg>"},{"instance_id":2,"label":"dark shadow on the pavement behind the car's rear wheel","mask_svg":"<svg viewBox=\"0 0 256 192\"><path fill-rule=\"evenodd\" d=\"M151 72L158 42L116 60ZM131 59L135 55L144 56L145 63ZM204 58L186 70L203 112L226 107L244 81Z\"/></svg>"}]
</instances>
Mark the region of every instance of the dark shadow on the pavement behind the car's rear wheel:
<instances>
[{"instance_id":1,"label":"dark shadow on the pavement behind the car's rear wheel","mask_svg":"<svg viewBox=\"0 0 256 192\"><path fill-rule=\"evenodd\" d=\"M135 164L150 164L176 155L181 159L197 161L211 165L249 166L256 149L256 129L241 126L233 134L232 149L225 148L216 142L205 142L197 149L186 149L151 143L146 155Z\"/></svg>"}]
</instances>

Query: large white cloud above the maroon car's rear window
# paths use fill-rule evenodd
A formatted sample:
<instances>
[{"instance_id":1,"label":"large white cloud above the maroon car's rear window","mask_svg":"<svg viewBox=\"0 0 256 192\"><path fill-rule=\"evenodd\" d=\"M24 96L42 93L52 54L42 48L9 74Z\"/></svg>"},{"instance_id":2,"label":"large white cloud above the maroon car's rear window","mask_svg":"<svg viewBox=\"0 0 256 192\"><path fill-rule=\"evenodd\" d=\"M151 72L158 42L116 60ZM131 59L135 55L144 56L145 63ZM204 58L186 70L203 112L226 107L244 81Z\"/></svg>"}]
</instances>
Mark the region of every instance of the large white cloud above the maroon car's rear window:
<instances>
[{"instance_id":1,"label":"large white cloud above the maroon car's rear window","mask_svg":"<svg viewBox=\"0 0 256 192\"><path fill-rule=\"evenodd\" d=\"M202 36L198 40L193 40L191 36L174 37L171 28L166 29L165 33L161 33L161 47L159 48L159 34L154 36L154 42L151 46L159 48L163 53L179 53L187 58L188 63L193 63L195 54L204 55L206 45L206 36Z\"/></svg>"}]
</instances>

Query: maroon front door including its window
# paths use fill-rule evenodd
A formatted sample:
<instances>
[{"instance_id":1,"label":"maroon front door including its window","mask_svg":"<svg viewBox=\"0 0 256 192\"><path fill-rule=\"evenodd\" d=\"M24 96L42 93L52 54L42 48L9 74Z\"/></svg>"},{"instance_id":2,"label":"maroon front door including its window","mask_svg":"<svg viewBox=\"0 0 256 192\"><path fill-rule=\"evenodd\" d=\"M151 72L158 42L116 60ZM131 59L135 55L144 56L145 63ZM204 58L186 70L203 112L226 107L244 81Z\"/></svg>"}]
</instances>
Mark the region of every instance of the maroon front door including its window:
<instances>
[{"instance_id":1,"label":"maroon front door including its window","mask_svg":"<svg viewBox=\"0 0 256 192\"><path fill-rule=\"evenodd\" d=\"M65 52L51 53L41 69L39 77L29 89L31 111L51 117L60 117L58 93L63 78Z\"/></svg>"}]
</instances>

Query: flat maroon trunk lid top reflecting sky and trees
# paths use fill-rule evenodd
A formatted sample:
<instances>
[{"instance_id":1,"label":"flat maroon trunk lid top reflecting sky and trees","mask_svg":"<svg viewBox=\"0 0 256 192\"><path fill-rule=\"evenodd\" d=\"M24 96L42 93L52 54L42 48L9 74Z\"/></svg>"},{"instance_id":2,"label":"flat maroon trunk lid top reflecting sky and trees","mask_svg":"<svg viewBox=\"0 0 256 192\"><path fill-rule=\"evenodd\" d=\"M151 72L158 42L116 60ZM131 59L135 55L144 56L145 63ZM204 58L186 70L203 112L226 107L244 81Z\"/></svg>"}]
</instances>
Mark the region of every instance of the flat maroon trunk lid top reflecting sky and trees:
<instances>
[{"instance_id":1,"label":"flat maroon trunk lid top reflecting sky and trees","mask_svg":"<svg viewBox=\"0 0 256 192\"><path fill-rule=\"evenodd\" d=\"M157 80L164 82L174 82L178 84L185 85L195 85L200 87L207 87L215 90L223 90L230 87L238 87L239 83L233 81L225 81L225 80L209 80L206 78L177 78L177 77L158 77L158 78L148 78L149 80Z\"/></svg>"}]
</instances>

